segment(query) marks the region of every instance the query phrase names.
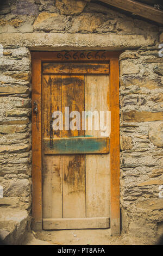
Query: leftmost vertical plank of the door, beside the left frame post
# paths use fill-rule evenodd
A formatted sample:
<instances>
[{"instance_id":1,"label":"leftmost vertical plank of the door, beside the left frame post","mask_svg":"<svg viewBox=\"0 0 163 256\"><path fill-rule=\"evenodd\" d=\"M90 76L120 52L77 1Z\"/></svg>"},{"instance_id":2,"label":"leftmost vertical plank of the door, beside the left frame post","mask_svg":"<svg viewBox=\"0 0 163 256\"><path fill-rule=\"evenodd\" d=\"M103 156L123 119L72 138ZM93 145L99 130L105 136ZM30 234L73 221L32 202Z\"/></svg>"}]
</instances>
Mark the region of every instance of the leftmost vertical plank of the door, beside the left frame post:
<instances>
[{"instance_id":1,"label":"leftmost vertical plank of the door, beside the left frame post","mask_svg":"<svg viewBox=\"0 0 163 256\"><path fill-rule=\"evenodd\" d=\"M42 137L49 138L52 113L61 111L61 76L42 77ZM61 137L61 131L53 131ZM62 217L62 156L43 154L43 218Z\"/></svg>"}]
</instances>

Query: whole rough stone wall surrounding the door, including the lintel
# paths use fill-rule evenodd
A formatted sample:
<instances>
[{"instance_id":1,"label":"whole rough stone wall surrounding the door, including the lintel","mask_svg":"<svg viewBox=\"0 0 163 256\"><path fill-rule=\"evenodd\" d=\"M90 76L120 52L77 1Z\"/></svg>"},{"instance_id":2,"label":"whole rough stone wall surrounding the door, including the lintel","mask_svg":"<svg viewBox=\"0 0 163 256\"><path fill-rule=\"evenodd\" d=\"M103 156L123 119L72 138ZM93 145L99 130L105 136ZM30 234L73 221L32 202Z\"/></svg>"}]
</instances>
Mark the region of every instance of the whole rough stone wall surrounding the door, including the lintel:
<instances>
[{"instance_id":1,"label":"whole rough stone wall surrounding the door, including the lintel","mask_svg":"<svg viewBox=\"0 0 163 256\"><path fill-rule=\"evenodd\" d=\"M163 198L159 197L163 185L162 32L152 22L89 1L1 3L1 209L26 210L28 216L31 212L30 50L122 50L122 233L152 242L163 233Z\"/></svg>"}]
</instances>

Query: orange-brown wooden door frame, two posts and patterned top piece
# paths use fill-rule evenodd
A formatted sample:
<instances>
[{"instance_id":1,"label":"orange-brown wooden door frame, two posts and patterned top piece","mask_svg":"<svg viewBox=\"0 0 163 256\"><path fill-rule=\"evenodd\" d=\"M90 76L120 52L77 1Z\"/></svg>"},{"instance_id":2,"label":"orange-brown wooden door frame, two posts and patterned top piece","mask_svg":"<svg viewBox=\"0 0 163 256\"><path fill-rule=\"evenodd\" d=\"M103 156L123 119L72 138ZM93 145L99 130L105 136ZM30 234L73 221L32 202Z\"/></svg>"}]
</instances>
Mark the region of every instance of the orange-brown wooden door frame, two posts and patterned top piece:
<instances>
[{"instance_id":1,"label":"orange-brown wooden door frame, two posts and patterned top piece","mask_svg":"<svg viewBox=\"0 0 163 256\"><path fill-rule=\"evenodd\" d=\"M121 52L111 51L55 51L31 52L32 109L37 103L38 113L32 111L32 217L33 229L42 230L42 135L41 135L41 68L42 62L109 62L110 134L110 228L111 235L120 234L120 106L119 64Z\"/></svg>"}]
</instances>

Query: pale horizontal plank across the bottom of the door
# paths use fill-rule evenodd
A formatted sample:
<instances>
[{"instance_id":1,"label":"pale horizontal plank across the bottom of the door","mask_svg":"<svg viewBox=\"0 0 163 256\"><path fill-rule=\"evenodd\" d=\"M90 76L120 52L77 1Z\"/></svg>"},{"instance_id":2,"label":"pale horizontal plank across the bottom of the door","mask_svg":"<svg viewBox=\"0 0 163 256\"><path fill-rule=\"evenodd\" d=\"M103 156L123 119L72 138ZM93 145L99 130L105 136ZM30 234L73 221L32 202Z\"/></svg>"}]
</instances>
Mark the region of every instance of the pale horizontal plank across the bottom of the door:
<instances>
[{"instance_id":1,"label":"pale horizontal plank across the bottom of the door","mask_svg":"<svg viewBox=\"0 0 163 256\"><path fill-rule=\"evenodd\" d=\"M43 229L91 229L109 228L108 217L98 218L43 218Z\"/></svg>"}]
</instances>

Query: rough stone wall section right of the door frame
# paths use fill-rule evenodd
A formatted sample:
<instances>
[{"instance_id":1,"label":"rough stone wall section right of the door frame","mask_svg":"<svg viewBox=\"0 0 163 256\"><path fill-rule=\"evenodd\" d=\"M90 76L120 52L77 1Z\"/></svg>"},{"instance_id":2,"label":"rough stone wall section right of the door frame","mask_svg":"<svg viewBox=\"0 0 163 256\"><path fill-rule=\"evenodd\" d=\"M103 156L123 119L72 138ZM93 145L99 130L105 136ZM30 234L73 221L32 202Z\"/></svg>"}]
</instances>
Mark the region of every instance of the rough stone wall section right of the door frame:
<instances>
[{"instance_id":1,"label":"rough stone wall section right of the door frame","mask_svg":"<svg viewBox=\"0 0 163 256\"><path fill-rule=\"evenodd\" d=\"M161 62L155 47L120 56L122 225L137 237L152 237L163 223Z\"/></svg>"}]
</instances>

